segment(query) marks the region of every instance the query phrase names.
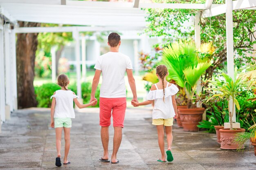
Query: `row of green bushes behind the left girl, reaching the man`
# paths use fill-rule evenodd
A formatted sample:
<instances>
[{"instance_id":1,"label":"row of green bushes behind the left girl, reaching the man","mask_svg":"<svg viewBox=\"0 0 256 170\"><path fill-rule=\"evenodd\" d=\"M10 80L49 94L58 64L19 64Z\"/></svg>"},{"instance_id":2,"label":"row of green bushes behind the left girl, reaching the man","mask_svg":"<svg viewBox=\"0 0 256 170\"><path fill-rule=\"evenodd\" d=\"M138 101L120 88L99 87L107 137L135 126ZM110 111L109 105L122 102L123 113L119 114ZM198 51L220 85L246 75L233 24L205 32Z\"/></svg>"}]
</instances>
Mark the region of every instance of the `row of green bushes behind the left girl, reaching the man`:
<instances>
[{"instance_id":1,"label":"row of green bushes behind the left girl, reaching the man","mask_svg":"<svg viewBox=\"0 0 256 170\"><path fill-rule=\"evenodd\" d=\"M91 90L92 90L92 84L89 82L83 82L81 84L82 88L82 96L79 96L80 98L83 99L83 104L87 104L90 102L90 97L91 97ZM38 102L38 107L51 107L52 104L52 99L50 97L53 95L53 93L57 90L60 90L61 87L58 86L57 84L54 83L47 83L43 84L41 86L36 86L35 87L35 93L36 93L36 100ZM68 86L68 89L76 93L76 84L70 84ZM95 92L95 97L98 100L98 103L94 107L99 107L99 86Z\"/></svg>"}]
</instances>

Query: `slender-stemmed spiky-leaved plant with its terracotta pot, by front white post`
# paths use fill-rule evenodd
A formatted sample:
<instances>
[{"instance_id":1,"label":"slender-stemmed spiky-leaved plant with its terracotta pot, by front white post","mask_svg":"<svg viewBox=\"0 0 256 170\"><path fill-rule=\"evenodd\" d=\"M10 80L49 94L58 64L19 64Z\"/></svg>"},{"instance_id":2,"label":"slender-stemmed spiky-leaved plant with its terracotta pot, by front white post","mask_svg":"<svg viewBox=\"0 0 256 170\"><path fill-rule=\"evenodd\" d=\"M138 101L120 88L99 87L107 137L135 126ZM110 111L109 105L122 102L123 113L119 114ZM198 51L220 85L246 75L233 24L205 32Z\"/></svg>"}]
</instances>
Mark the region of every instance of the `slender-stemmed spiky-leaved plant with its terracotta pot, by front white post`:
<instances>
[{"instance_id":1,"label":"slender-stemmed spiky-leaved plant with its terracotta pot, by front white post","mask_svg":"<svg viewBox=\"0 0 256 170\"><path fill-rule=\"evenodd\" d=\"M230 128L220 129L220 148L233 150L238 148L238 144L234 142L235 134L245 132L245 129L243 128L233 128L232 117L236 108L240 110L240 106L236 98L240 93L242 93L241 89L246 87L246 82L241 78L241 76L237 76L237 68L235 69L234 79L220 70L219 72L220 75L209 80L208 90L209 93L212 94L210 99L223 99L227 102L232 102L231 108L228 104ZM208 101L210 99L208 99Z\"/></svg>"}]
</instances>

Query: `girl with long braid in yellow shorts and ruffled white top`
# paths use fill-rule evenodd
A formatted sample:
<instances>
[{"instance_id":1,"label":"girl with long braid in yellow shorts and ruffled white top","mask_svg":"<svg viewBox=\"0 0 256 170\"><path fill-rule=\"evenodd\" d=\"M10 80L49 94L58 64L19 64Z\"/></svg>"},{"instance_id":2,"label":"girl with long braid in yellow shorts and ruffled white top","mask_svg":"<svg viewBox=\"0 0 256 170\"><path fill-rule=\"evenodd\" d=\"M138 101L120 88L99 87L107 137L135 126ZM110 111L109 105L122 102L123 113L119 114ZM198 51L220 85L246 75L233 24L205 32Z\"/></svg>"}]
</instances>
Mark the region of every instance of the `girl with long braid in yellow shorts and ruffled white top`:
<instances>
[{"instance_id":1,"label":"girl with long braid in yellow shorts and ruffled white top","mask_svg":"<svg viewBox=\"0 0 256 170\"><path fill-rule=\"evenodd\" d=\"M164 153L164 127L166 131L168 148L166 151L167 161L173 161L173 155L171 153L171 145L173 142L172 126L173 117L177 118L177 106L175 101L175 94L179 89L174 84L169 84L166 81L168 75L168 69L165 65L159 65L156 68L157 77L159 82L153 84L147 95L147 101L145 102L132 102L132 105L143 106L151 104L154 101L154 108L152 113L153 125L157 127L158 144L161 151L161 158L157 159L159 162L166 162ZM165 87L165 88L164 88Z\"/></svg>"}]
</instances>

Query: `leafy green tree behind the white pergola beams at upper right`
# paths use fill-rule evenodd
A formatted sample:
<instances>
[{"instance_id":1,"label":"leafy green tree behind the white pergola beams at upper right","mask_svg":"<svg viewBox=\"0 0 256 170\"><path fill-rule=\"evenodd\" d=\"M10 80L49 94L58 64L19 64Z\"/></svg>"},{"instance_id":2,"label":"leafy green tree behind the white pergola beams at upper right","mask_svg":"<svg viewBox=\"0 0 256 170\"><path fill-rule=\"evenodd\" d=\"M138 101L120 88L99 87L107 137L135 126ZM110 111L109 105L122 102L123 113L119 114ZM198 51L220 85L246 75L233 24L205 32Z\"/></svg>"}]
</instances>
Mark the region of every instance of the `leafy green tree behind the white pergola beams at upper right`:
<instances>
[{"instance_id":1,"label":"leafy green tree behind the white pergola beams at upper right","mask_svg":"<svg viewBox=\"0 0 256 170\"><path fill-rule=\"evenodd\" d=\"M153 2L188 3L187 0L153 0ZM205 0L190 0L191 3L205 3ZM216 4L225 4L225 0L214 0ZM196 9L145 9L148 13L148 22L145 33L152 37L163 37L163 44L180 39L191 40L194 36L194 26L191 24ZM200 12L200 11L199 11ZM202 13L202 12L200 12ZM255 41L256 18L255 10L233 11L234 51L239 57L235 57L236 66L250 64L252 62L253 45ZM201 42L212 42L215 53L211 56L213 64L206 70L204 79L212 77L213 72L225 68L227 61L226 47L226 16L216 15L211 18L200 18Z\"/></svg>"}]
</instances>

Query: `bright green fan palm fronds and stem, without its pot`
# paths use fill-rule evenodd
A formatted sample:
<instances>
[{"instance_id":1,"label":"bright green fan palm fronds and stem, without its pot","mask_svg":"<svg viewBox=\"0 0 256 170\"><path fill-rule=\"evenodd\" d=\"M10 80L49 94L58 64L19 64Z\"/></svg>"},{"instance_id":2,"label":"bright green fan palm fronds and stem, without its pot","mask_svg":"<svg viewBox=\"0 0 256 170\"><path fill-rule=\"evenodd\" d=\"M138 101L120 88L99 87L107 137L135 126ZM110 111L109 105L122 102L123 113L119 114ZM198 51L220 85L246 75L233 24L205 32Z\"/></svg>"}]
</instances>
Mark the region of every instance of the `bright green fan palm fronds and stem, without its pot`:
<instances>
[{"instance_id":1,"label":"bright green fan palm fronds and stem, without its pot","mask_svg":"<svg viewBox=\"0 0 256 170\"><path fill-rule=\"evenodd\" d=\"M184 88L188 98L187 106L192 107L197 82L211 66L209 58L200 60L194 42L173 42L163 50L163 64L168 66L170 79Z\"/></svg>"}]
</instances>

